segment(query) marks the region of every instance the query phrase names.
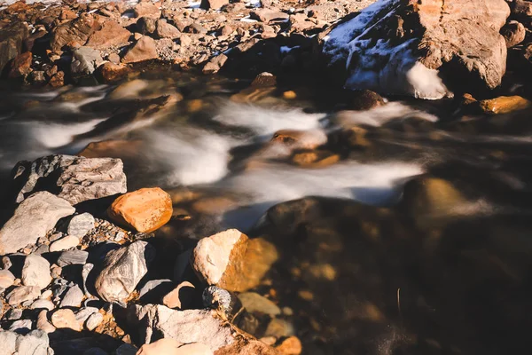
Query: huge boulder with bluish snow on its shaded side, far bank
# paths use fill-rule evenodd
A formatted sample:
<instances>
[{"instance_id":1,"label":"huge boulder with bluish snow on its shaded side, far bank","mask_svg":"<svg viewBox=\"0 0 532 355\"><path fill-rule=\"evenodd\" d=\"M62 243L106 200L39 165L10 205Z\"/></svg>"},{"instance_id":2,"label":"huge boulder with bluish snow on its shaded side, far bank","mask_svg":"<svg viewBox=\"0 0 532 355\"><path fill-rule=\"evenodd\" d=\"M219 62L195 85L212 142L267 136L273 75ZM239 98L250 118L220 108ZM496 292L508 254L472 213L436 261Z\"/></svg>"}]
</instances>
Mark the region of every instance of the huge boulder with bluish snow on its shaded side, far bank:
<instances>
[{"instance_id":1,"label":"huge boulder with bluish snow on its shaded side, far bank","mask_svg":"<svg viewBox=\"0 0 532 355\"><path fill-rule=\"evenodd\" d=\"M505 74L509 14L504 0L379 0L323 36L323 53L349 89L421 99L491 90Z\"/></svg>"}]
</instances>

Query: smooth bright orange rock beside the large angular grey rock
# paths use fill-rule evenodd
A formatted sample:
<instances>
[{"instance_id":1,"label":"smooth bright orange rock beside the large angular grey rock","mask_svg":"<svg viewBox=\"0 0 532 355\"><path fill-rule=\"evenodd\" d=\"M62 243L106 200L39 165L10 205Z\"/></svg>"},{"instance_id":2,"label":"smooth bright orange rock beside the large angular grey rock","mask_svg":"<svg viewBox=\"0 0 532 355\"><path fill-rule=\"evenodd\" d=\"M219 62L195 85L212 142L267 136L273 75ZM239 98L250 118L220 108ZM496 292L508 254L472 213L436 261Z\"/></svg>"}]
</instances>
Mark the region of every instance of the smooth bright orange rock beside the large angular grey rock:
<instances>
[{"instance_id":1,"label":"smooth bright orange rock beside the large angular grey rock","mask_svg":"<svg viewBox=\"0 0 532 355\"><path fill-rule=\"evenodd\" d=\"M114 200L107 214L118 224L150 233L172 217L172 199L159 187L143 188Z\"/></svg>"}]
</instances>

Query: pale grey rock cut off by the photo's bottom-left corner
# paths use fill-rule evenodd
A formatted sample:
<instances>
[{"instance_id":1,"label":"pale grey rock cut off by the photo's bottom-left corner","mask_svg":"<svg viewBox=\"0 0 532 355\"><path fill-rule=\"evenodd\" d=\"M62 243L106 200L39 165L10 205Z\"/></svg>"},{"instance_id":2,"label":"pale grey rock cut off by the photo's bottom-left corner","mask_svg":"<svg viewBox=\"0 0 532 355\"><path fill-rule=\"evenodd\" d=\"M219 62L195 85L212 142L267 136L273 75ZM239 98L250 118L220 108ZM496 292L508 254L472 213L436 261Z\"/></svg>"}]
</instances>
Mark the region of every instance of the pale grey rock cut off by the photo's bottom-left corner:
<instances>
[{"instance_id":1,"label":"pale grey rock cut off by the photo's bottom-left corner","mask_svg":"<svg viewBox=\"0 0 532 355\"><path fill-rule=\"evenodd\" d=\"M27 335L0 330L2 354L53 355L48 335L42 330L34 330Z\"/></svg>"}]
</instances>

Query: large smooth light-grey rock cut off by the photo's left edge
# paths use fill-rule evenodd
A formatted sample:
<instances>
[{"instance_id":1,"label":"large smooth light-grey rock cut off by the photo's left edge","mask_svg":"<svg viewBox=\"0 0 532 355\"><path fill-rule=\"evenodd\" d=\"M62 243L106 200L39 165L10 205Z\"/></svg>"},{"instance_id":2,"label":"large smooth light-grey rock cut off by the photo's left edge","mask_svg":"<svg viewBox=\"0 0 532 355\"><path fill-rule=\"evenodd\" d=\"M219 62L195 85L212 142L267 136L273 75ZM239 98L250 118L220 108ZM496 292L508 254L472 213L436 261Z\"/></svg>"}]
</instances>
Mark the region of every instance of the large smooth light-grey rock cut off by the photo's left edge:
<instances>
[{"instance_id":1,"label":"large smooth light-grey rock cut off by the photo's left edge","mask_svg":"<svg viewBox=\"0 0 532 355\"><path fill-rule=\"evenodd\" d=\"M34 193L20 203L15 214L0 230L0 255L14 253L44 237L59 221L75 209L51 193Z\"/></svg>"}]
</instances>

